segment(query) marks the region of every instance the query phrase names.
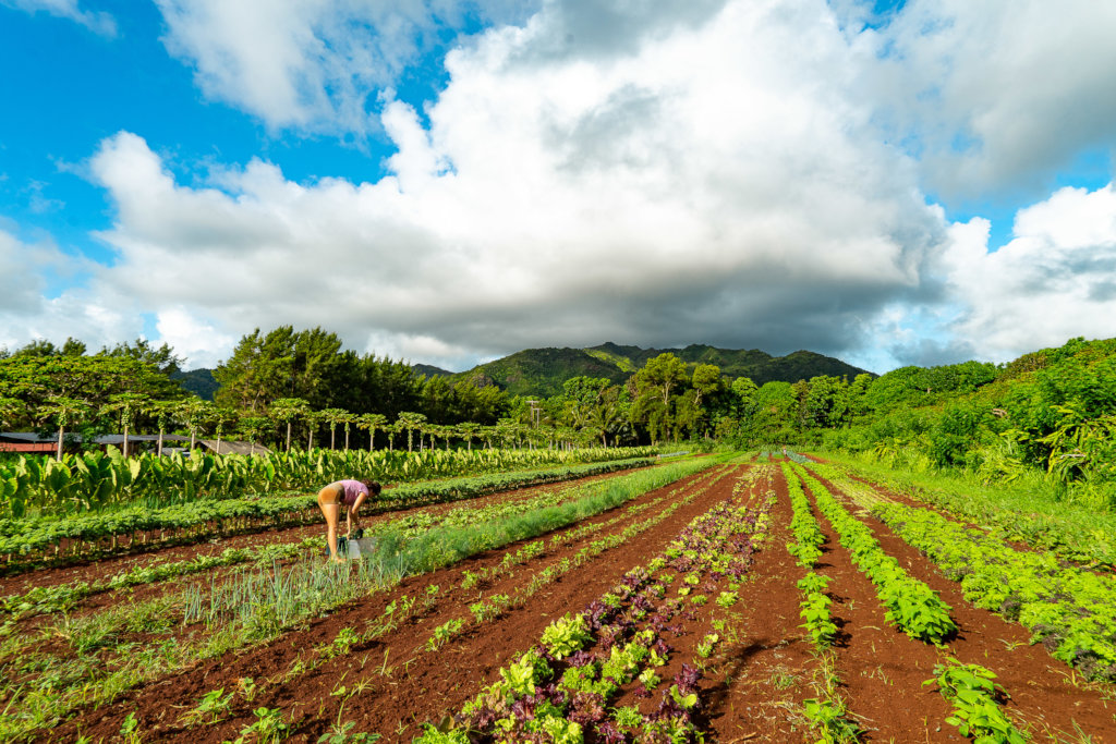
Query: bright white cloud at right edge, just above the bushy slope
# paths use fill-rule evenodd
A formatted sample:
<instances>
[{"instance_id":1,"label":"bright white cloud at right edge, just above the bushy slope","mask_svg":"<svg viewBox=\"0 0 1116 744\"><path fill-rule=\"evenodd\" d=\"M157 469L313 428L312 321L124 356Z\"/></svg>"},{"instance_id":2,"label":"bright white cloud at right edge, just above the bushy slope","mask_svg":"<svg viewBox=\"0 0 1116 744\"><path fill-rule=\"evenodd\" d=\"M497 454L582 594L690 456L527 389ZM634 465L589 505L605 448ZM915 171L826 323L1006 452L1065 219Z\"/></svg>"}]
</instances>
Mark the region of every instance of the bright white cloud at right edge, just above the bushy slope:
<instances>
[{"instance_id":1,"label":"bright white cloud at right edge, just above the bushy slope","mask_svg":"<svg viewBox=\"0 0 1116 744\"><path fill-rule=\"evenodd\" d=\"M951 229L951 292L966 308L956 337L995 360L1108 338L1116 318L1116 190L1061 189L1017 214L1014 239L988 252L989 223Z\"/></svg>"}]
</instances>

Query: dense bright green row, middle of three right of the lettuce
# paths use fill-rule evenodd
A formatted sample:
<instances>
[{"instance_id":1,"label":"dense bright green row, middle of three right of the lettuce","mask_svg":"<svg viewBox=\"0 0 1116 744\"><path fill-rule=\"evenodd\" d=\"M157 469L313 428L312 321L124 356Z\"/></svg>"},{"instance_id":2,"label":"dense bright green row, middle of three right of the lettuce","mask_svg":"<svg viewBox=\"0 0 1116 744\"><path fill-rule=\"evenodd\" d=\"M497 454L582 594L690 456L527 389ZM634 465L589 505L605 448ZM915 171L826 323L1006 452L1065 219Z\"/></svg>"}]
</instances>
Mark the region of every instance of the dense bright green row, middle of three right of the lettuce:
<instances>
[{"instance_id":1,"label":"dense bright green row, middle of three right of the lettuce","mask_svg":"<svg viewBox=\"0 0 1116 744\"><path fill-rule=\"evenodd\" d=\"M918 640L941 645L953 636L958 627L950 617L951 608L924 582L908 574L898 561L888 555L876 542L863 522L849 514L834 499L820 481L801 465L783 463L787 481L801 480L809 487L818 504L840 538L840 543L852 553L853 563L876 587L879 601L887 608L885 617L896 628Z\"/></svg>"}]
</instances>

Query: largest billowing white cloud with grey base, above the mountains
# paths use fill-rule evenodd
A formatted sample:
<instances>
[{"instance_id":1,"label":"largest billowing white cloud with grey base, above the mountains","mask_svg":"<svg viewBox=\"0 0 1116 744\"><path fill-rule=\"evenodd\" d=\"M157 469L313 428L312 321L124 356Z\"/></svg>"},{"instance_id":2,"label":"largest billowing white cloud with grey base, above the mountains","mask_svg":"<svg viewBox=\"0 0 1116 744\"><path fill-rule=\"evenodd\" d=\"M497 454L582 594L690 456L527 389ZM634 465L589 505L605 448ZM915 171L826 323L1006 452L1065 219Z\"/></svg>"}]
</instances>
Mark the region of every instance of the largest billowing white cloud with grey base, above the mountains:
<instances>
[{"instance_id":1,"label":"largest billowing white cloud with grey base, above the mountains","mask_svg":"<svg viewBox=\"0 0 1116 744\"><path fill-rule=\"evenodd\" d=\"M882 305L933 292L941 212L875 139L864 52L821 0L720 4L664 25L548 3L490 29L449 56L429 127L385 103L377 183L252 161L187 187L121 133L92 162L118 211L102 281L215 346L280 323L459 366L609 339L858 346Z\"/></svg>"}]
</instances>

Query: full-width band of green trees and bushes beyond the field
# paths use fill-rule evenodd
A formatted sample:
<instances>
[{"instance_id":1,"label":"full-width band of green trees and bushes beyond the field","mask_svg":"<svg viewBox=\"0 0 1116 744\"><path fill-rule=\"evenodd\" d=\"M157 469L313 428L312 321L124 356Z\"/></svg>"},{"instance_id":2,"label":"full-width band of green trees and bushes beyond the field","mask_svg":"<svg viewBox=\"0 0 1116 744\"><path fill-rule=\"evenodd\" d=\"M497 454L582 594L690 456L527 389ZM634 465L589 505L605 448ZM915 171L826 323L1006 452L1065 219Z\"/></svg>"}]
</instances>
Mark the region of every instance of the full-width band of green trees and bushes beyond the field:
<instances>
[{"instance_id":1,"label":"full-width band of green trees and bushes beyond the field","mask_svg":"<svg viewBox=\"0 0 1116 744\"><path fill-rule=\"evenodd\" d=\"M175 431L279 448L792 444L987 479L1039 472L1116 508L1116 340L1071 339L1006 365L761 386L666 352L622 383L575 377L549 397L415 375L320 328L246 335L214 370L212 403L172 379L180 366L169 346L143 339L94 354L74 339L0 349L0 425Z\"/></svg>"}]
</instances>

